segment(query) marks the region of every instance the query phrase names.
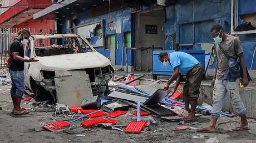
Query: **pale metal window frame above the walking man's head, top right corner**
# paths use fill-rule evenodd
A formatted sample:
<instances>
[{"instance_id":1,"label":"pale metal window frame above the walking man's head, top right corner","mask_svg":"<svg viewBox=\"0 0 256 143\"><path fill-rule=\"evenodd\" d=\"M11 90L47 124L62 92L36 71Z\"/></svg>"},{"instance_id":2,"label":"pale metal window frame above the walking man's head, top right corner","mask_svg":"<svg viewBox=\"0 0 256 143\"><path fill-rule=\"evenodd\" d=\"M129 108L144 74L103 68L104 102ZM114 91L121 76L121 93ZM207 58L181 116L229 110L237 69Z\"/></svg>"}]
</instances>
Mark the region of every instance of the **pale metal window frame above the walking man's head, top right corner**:
<instances>
[{"instance_id":1,"label":"pale metal window frame above the walking man's head, top right corner","mask_svg":"<svg viewBox=\"0 0 256 143\"><path fill-rule=\"evenodd\" d=\"M231 29L230 34L232 35L239 35L239 34L253 34L256 33L255 30L248 30L248 31L238 31L234 30L235 27L238 26L238 0L232 0L231 3Z\"/></svg>"}]
</instances>

